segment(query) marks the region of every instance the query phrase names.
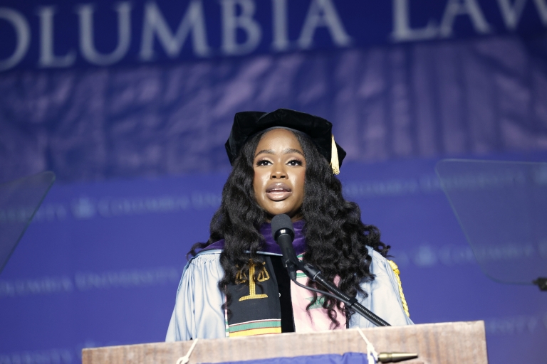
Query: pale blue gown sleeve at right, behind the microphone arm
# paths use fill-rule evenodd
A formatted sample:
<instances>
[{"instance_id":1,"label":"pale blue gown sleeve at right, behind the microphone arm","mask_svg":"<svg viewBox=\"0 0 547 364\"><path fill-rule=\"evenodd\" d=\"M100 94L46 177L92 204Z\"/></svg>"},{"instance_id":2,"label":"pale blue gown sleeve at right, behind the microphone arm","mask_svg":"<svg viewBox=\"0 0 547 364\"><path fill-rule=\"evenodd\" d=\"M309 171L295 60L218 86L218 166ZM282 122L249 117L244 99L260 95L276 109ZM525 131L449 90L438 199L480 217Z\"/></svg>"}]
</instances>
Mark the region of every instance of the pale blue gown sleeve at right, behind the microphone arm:
<instances>
[{"instance_id":1,"label":"pale blue gown sleeve at right, behind the microphone arm","mask_svg":"<svg viewBox=\"0 0 547 364\"><path fill-rule=\"evenodd\" d=\"M369 254L373 258L370 272L374 274L375 279L361 284L368 296L365 298L363 294L358 294L358 301L392 326L412 325L412 320L405 313L399 283L389 262L372 249L369 250ZM354 327L375 327L375 324L359 314L354 314L350 319L350 328Z\"/></svg>"}]
</instances>

